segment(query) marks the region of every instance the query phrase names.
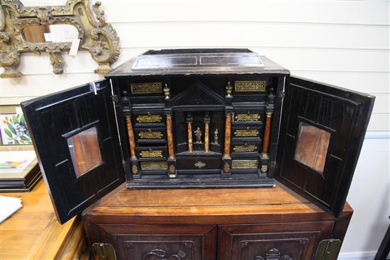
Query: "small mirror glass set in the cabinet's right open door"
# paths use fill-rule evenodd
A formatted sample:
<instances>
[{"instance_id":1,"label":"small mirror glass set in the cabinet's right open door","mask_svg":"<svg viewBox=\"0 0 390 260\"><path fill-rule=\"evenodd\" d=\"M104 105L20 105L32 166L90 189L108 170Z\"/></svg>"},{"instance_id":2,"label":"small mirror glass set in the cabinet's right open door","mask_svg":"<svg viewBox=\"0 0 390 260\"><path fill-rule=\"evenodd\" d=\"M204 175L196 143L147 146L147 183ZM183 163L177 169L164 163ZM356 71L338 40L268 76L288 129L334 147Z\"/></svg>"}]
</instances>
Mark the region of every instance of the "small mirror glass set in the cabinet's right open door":
<instances>
[{"instance_id":1,"label":"small mirror glass set in the cabinet's right open door","mask_svg":"<svg viewBox=\"0 0 390 260\"><path fill-rule=\"evenodd\" d=\"M322 173L329 140L330 132L307 123L300 123L298 145L296 146L294 159Z\"/></svg>"}]
</instances>

